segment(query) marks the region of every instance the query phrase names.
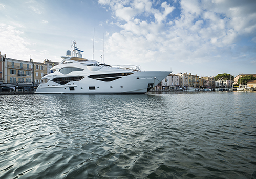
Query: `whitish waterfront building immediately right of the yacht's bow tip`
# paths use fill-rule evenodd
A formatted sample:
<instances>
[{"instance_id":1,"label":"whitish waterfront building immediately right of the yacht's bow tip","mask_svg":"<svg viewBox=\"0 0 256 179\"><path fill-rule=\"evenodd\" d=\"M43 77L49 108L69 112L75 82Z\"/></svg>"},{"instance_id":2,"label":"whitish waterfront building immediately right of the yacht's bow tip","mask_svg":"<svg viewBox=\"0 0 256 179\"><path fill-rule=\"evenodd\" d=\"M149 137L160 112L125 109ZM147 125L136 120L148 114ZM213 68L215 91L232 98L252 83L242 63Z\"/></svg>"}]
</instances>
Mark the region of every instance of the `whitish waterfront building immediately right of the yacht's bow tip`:
<instances>
[{"instance_id":1,"label":"whitish waterfront building immediately right of the yacht's bow tip","mask_svg":"<svg viewBox=\"0 0 256 179\"><path fill-rule=\"evenodd\" d=\"M161 84L162 89L178 89L180 87L180 78L178 75L169 74L162 80Z\"/></svg>"}]
</instances>

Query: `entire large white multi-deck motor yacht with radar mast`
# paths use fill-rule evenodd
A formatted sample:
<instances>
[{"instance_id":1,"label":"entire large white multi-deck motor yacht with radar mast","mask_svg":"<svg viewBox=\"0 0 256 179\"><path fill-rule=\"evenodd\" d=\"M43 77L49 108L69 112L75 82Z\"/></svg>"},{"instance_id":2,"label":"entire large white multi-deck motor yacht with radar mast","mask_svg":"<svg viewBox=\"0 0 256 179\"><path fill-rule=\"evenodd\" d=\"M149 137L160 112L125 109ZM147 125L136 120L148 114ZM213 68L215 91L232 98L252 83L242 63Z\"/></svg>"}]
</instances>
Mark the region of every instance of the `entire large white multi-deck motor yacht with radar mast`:
<instances>
[{"instance_id":1,"label":"entire large white multi-deck motor yacht with radar mast","mask_svg":"<svg viewBox=\"0 0 256 179\"><path fill-rule=\"evenodd\" d=\"M60 94L144 94L171 72L145 72L140 66L110 66L82 58L81 50L67 51L58 65L42 77L35 93Z\"/></svg>"}]
</instances>

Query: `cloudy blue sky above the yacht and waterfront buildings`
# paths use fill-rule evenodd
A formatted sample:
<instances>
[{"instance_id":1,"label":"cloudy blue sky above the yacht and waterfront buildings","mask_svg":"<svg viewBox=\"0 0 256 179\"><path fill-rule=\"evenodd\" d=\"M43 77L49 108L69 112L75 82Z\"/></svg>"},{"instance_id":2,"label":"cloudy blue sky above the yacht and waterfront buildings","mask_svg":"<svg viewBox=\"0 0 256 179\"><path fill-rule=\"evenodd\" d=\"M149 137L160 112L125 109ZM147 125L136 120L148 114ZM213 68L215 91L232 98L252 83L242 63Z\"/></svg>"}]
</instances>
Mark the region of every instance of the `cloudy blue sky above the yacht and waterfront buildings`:
<instances>
[{"instance_id":1,"label":"cloudy blue sky above the yacht and waterfront buildings","mask_svg":"<svg viewBox=\"0 0 256 179\"><path fill-rule=\"evenodd\" d=\"M110 65L256 74L254 0L2 0L0 19L7 58L60 62L75 40L84 58L100 61L104 49Z\"/></svg>"}]
</instances>

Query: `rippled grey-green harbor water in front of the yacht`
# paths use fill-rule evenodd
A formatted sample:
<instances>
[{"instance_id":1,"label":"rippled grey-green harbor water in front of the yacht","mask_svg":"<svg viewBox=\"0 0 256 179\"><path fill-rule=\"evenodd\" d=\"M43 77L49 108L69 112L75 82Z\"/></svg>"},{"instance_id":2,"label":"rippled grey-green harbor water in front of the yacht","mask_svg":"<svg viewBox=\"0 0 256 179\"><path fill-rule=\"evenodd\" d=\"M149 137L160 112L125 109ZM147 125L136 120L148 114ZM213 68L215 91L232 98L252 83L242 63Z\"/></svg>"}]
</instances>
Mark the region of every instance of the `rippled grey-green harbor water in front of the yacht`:
<instances>
[{"instance_id":1,"label":"rippled grey-green harbor water in front of the yacht","mask_svg":"<svg viewBox=\"0 0 256 179\"><path fill-rule=\"evenodd\" d=\"M1 95L0 178L256 178L255 92Z\"/></svg>"}]
</instances>

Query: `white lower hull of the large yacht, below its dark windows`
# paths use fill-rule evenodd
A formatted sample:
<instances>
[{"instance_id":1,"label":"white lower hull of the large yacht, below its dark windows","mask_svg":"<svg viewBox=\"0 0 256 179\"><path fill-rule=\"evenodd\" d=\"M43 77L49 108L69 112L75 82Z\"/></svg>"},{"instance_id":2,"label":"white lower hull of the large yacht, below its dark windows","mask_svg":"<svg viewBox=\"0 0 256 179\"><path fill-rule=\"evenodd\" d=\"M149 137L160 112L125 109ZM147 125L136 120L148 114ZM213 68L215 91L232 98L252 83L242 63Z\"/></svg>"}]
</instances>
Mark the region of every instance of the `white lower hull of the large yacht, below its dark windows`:
<instances>
[{"instance_id":1,"label":"white lower hull of the large yacht, below its dark windows","mask_svg":"<svg viewBox=\"0 0 256 179\"><path fill-rule=\"evenodd\" d=\"M127 71L125 71L127 72ZM137 72L113 81L101 81L84 76L79 81L61 85L52 80L40 84L35 93L40 94L144 94L155 87L171 72Z\"/></svg>"}]
</instances>

